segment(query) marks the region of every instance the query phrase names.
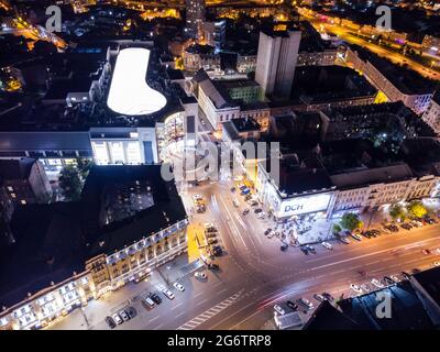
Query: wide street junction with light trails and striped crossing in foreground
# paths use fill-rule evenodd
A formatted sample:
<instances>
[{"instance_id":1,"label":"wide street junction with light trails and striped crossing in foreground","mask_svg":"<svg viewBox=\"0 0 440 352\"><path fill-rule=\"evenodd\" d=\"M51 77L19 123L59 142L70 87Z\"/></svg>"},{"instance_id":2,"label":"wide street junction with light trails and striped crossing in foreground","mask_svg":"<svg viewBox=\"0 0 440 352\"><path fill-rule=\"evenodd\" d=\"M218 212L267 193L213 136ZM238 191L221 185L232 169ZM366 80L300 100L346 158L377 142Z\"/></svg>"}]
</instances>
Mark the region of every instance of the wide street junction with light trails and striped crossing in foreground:
<instances>
[{"instance_id":1,"label":"wide street junction with light trails and striped crossing in foreground","mask_svg":"<svg viewBox=\"0 0 440 352\"><path fill-rule=\"evenodd\" d=\"M226 250L226 254L216 260L220 271L205 270L208 280L201 282L194 277L194 271L183 276L172 268L170 283L179 277L185 292L172 287L174 300L163 296L161 305L146 310L141 305L142 295L166 286L162 267L146 283L109 293L109 297L117 297L111 301L101 304L98 300L86 307L85 315L92 320L89 329L108 329L103 318L127 306L128 300L138 316L117 329L261 329L273 318L274 304L306 297L317 306L318 301L312 298L316 293L329 292L336 298L353 296L350 284L361 285L374 277L399 275L402 271L410 272L416 267L432 267L440 258L433 254L437 252L421 253L424 249L440 248L437 224L410 231L402 229L397 234L376 239L363 238L361 242L352 240L348 245L331 241L332 251L317 244L317 254L305 255L294 246L282 252L279 239L267 239L263 233L270 220L257 219L253 211L242 216L233 207L232 198L237 198L241 202L240 210L244 208L242 197L230 191L231 185L231 182L207 184L189 188L184 196L189 208L194 194L204 196L207 212L195 213L191 222L209 221L219 229L219 242ZM179 260L185 262L184 257ZM74 312L52 328L86 329L87 326L82 314Z\"/></svg>"}]
</instances>

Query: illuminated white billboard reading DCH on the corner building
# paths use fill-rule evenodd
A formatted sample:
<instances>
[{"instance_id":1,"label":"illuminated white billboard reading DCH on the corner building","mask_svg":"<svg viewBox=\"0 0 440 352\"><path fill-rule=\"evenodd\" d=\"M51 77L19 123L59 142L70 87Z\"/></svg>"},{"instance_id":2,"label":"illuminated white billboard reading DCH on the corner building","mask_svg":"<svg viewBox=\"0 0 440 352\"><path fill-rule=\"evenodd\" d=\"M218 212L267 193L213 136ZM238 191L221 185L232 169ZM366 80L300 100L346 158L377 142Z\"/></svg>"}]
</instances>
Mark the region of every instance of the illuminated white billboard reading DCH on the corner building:
<instances>
[{"instance_id":1,"label":"illuminated white billboard reading DCH on the corner building","mask_svg":"<svg viewBox=\"0 0 440 352\"><path fill-rule=\"evenodd\" d=\"M330 199L331 194L319 194L286 199L282 201L277 217L285 218L309 212L326 211L329 207Z\"/></svg>"}]
</instances>

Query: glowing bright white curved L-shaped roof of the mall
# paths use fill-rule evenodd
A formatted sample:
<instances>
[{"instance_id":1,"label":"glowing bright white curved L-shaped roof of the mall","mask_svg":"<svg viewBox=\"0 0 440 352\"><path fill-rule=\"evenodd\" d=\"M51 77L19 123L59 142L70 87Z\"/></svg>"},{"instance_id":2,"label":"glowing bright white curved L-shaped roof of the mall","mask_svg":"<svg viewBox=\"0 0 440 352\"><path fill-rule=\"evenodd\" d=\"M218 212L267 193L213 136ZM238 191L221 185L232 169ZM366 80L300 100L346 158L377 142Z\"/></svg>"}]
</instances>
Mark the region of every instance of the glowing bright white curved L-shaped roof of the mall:
<instances>
[{"instance_id":1,"label":"glowing bright white curved L-shaped roof of the mall","mask_svg":"<svg viewBox=\"0 0 440 352\"><path fill-rule=\"evenodd\" d=\"M166 98L148 87L146 70L150 51L142 47L122 50L113 70L107 106L128 116L148 114L165 107Z\"/></svg>"}]
</instances>

